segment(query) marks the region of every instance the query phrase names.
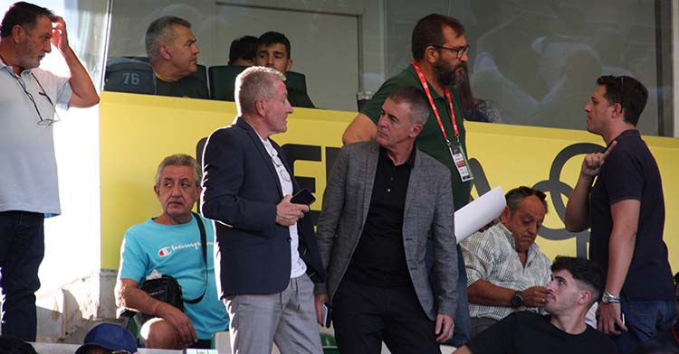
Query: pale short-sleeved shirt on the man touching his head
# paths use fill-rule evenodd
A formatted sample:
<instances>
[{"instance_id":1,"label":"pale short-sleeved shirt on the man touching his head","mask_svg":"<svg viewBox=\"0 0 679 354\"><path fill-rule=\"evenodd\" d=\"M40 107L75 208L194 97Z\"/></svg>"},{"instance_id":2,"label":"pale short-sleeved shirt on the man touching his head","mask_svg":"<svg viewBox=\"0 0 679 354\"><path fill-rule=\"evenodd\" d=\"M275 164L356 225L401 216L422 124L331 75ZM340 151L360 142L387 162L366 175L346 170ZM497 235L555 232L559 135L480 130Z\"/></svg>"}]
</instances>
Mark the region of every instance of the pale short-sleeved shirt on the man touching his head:
<instances>
[{"instance_id":1,"label":"pale short-sleeved shirt on the man touching his head","mask_svg":"<svg viewBox=\"0 0 679 354\"><path fill-rule=\"evenodd\" d=\"M69 79L39 68L15 75L0 61L0 87L0 211L61 214L53 126L38 122L54 118L53 105L68 105Z\"/></svg>"}]
</instances>

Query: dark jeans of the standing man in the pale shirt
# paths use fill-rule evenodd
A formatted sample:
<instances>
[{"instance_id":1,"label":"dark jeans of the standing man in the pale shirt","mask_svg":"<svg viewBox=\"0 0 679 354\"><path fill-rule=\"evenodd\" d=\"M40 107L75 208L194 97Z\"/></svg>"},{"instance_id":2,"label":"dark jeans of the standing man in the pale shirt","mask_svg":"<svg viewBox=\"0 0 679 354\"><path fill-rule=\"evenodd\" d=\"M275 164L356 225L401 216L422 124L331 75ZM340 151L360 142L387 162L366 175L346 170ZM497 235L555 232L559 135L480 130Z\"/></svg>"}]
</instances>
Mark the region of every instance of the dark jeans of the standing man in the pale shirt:
<instances>
[{"instance_id":1,"label":"dark jeans of the standing man in the pale shirt","mask_svg":"<svg viewBox=\"0 0 679 354\"><path fill-rule=\"evenodd\" d=\"M0 288L2 334L35 341L35 292L44 255L44 215L28 211L0 212Z\"/></svg>"}]
</instances>

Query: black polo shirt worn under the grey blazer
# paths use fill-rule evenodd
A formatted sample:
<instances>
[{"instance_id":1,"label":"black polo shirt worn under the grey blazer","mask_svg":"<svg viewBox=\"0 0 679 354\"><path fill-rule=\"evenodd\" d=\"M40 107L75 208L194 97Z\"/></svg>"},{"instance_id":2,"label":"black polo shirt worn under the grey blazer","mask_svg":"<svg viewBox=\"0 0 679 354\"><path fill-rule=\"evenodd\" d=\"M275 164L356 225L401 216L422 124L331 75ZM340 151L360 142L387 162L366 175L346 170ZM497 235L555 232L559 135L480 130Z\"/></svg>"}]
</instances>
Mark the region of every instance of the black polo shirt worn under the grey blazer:
<instances>
[{"instance_id":1,"label":"black polo shirt worn under the grey blazer","mask_svg":"<svg viewBox=\"0 0 679 354\"><path fill-rule=\"evenodd\" d=\"M403 213L415 155L413 148L406 163L396 166L379 148L368 217L345 279L387 288L412 284L403 247Z\"/></svg>"}]
</instances>

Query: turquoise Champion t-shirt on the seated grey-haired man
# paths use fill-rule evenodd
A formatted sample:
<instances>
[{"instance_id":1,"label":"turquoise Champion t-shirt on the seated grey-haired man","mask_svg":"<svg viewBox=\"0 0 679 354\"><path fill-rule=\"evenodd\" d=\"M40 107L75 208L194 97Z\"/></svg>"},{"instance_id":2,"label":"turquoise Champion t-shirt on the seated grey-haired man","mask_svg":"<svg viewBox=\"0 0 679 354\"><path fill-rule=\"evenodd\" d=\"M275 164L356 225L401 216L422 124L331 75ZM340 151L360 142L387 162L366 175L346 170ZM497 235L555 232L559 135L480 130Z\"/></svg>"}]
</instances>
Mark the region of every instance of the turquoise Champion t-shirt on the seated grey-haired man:
<instances>
[{"instance_id":1,"label":"turquoise Champion t-shirt on the seated grey-haired man","mask_svg":"<svg viewBox=\"0 0 679 354\"><path fill-rule=\"evenodd\" d=\"M228 329L229 317L216 291L213 223L202 220L207 237L207 284L195 218L179 225L162 225L148 219L129 228L120 247L118 278L141 284L156 270L161 275L175 277L185 299L195 299L206 289L200 303L184 303L184 312L196 328L198 338L209 340L213 333Z\"/></svg>"}]
</instances>

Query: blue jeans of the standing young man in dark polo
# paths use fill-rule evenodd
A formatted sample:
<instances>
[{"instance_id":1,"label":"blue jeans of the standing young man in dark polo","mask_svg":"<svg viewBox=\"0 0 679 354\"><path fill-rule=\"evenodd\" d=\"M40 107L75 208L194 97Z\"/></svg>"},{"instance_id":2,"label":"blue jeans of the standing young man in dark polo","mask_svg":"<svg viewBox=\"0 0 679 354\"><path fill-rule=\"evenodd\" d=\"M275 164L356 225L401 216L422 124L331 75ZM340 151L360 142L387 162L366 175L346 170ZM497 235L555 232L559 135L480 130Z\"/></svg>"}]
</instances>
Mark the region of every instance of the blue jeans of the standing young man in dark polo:
<instances>
[{"instance_id":1,"label":"blue jeans of the standing young man in dark polo","mask_svg":"<svg viewBox=\"0 0 679 354\"><path fill-rule=\"evenodd\" d=\"M660 331L668 331L676 317L676 307L671 301L626 301L620 308L625 314L627 331L614 336L617 348L625 354L646 342Z\"/></svg>"}]
</instances>

